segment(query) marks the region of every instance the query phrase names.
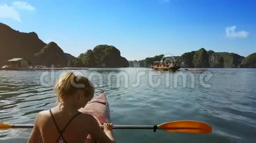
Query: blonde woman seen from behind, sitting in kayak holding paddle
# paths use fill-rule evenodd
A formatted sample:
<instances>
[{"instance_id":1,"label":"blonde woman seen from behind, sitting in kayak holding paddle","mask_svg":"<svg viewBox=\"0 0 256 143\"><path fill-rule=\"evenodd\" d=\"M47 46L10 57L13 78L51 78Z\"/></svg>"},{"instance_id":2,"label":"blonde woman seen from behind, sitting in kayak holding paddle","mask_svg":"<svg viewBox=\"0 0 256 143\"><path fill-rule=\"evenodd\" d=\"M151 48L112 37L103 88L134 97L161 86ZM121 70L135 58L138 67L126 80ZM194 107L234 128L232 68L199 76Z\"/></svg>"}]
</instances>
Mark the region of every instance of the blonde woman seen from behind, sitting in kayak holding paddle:
<instances>
[{"instance_id":1,"label":"blonde woman seen from behind, sitting in kayak holding paddle","mask_svg":"<svg viewBox=\"0 0 256 143\"><path fill-rule=\"evenodd\" d=\"M55 92L59 104L38 113L28 143L115 143L111 123L102 131L92 115L78 111L94 96L87 78L68 73L56 83Z\"/></svg>"}]
</instances>

